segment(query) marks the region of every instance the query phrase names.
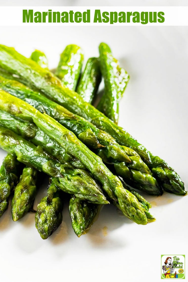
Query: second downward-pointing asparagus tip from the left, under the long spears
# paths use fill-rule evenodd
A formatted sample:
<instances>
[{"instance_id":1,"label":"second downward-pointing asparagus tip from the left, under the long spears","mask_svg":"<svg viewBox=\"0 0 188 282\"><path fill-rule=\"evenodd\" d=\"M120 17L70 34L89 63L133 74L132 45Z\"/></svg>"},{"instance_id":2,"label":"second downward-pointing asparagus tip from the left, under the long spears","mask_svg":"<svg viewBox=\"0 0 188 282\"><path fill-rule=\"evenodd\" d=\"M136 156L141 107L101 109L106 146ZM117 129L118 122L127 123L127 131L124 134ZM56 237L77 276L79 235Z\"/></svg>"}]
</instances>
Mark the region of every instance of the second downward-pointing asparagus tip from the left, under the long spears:
<instances>
[{"instance_id":1,"label":"second downward-pointing asparagus tip from the left, under the long spears","mask_svg":"<svg viewBox=\"0 0 188 282\"><path fill-rule=\"evenodd\" d=\"M14 221L21 219L33 208L37 194L37 181L38 171L34 168L25 167L12 198L12 219Z\"/></svg>"}]
</instances>

